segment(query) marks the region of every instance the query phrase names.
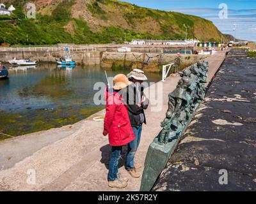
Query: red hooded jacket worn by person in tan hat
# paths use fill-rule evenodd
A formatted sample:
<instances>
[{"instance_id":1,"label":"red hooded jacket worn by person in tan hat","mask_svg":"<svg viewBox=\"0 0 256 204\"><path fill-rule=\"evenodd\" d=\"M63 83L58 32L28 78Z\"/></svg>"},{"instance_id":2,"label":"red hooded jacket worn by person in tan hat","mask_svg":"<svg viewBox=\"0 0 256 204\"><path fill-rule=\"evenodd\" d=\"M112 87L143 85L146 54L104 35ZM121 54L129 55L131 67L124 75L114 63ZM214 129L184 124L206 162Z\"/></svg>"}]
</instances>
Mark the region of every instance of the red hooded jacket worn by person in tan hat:
<instances>
[{"instance_id":1,"label":"red hooded jacket worn by person in tan hat","mask_svg":"<svg viewBox=\"0 0 256 204\"><path fill-rule=\"evenodd\" d=\"M104 135L109 137L111 146L122 146L134 140L129 120L127 105L118 92L106 94L106 115L104 118Z\"/></svg>"}]
</instances>

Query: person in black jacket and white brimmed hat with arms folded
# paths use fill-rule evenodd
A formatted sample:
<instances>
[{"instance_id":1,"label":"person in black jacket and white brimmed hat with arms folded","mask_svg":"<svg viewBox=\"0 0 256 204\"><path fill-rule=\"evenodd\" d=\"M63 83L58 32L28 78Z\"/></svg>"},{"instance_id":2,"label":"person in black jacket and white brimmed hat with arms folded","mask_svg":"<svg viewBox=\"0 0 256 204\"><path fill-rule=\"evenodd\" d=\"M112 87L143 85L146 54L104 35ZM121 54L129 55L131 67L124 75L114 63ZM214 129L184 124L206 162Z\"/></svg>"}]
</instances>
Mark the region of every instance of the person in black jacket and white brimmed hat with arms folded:
<instances>
[{"instance_id":1,"label":"person in black jacket and white brimmed hat with arms folded","mask_svg":"<svg viewBox=\"0 0 256 204\"><path fill-rule=\"evenodd\" d=\"M129 119L135 139L128 144L127 159L125 169L134 178L139 178L140 173L136 169L141 168L141 164L134 163L134 156L140 145L141 131L143 123L146 124L146 117L144 110L148 108L149 100L143 92L141 83L147 80L144 72L140 69L134 69L127 75L127 78L133 82L127 87L127 108Z\"/></svg>"}]
</instances>

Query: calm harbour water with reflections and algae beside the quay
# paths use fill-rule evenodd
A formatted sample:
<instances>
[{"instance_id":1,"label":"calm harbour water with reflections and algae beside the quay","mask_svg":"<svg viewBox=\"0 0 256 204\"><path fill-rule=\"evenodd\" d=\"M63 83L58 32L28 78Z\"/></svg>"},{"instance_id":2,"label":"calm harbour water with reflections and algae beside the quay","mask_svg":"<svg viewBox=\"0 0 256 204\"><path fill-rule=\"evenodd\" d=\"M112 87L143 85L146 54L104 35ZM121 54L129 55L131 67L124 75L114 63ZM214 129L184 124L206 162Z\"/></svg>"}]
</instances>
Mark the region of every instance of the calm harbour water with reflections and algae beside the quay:
<instances>
[{"instance_id":1,"label":"calm harbour water with reflections and algae beside the quay","mask_svg":"<svg viewBox=\"0 0 256 204\"><path fill-rule=\"evenodd\" d=\"M57 68L39 64L36 68L9 70L8 80L0 80L0 133L23 135L57 128L85 119L104 108L93 103L96 82L106 82L100 66ZM109 77L128 70L108 71ZM148 82L161 75L148 73ZM1 140L1 136L0 136Z\"/></svg>"}]
</instances>

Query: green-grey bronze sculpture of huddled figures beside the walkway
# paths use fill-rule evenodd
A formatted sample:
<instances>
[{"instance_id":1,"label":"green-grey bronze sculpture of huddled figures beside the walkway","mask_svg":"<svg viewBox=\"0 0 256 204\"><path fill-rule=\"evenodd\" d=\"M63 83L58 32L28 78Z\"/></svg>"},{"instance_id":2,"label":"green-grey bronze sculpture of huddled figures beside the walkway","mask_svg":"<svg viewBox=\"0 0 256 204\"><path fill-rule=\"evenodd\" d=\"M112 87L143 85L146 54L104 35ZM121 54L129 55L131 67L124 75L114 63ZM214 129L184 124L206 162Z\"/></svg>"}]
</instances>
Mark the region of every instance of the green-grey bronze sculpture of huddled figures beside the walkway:
<instances>
[{"instance_id":1,"label":"green-grey bronze sculpture of huddled figures beside the walkway","mask_svg":"<svg viewBox=\"0 0 256 204\"><path fill-rule=\"evenodd\" d=\"M179 72L182 77L177 88L169 94L166 118L161 122L163 128L159 133L159 144L166 144L179 136L196 108L204 99L207 83L207 61L200 61L188 69Z\"/></svg>"}]
</instances>

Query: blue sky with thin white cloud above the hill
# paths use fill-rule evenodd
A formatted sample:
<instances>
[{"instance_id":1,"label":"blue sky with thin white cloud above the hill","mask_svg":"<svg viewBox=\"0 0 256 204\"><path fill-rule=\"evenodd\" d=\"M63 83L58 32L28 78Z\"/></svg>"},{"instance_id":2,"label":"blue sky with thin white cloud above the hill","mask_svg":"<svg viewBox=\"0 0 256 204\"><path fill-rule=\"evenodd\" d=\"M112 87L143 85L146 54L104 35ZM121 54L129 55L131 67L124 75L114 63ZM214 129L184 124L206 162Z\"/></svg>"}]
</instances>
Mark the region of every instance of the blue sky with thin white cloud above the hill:
<instances>
[{"instance_id":1,"label":"blue sky with thin white cloud above the hill","mask_svg":"<svg viewBox=\"0 0 256 204\"><path fill-rule=\"evenodd\" d=\"M256 0L122 0L146 8L204 17L225 34L256 42ZM234 31L234 27L236 27Z\"/></svg>"}]
</instances>

